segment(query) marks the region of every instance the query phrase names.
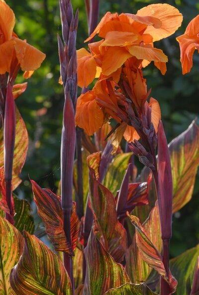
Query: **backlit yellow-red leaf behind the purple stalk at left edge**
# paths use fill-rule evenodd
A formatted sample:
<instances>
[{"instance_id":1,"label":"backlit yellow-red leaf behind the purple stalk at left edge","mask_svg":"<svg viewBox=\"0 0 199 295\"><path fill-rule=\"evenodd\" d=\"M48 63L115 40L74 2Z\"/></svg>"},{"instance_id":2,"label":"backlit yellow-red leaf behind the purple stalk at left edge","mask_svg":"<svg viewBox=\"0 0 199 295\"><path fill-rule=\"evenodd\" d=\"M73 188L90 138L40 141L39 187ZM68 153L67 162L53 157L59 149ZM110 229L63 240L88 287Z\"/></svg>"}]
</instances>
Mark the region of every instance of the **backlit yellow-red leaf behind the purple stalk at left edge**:
<instances>
[{"instance_id":1,"label":"backlit yellow-red leaf behind the purple stalk at left edge","mask_svg":"<svg viewBox=\"0 0 199 295\"><path fill-rule=\"evenodd\" d=\"M12 167L12 190L14 190L21 179L19 175L24 165L27 148L28 148L28 133L25 127L25 123L21 118L21 115L17 108L16 110L16 137L14 145L14 158ZM0 129L0 168L3 167L3 130Z\"/></svg>"}]
</instances>

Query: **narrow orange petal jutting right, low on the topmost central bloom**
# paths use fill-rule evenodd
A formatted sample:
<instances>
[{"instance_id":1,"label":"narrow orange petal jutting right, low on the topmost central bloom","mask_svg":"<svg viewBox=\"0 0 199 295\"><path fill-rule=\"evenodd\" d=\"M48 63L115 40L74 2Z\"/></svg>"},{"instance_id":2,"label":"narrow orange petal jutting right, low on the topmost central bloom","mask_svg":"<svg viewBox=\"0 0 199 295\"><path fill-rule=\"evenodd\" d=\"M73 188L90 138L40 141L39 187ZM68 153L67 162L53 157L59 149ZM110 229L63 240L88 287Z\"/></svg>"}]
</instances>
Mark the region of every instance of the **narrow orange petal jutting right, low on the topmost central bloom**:
<instances>
[{"instance_id":1,"label":"narrow orange petal jutting right, low on the topmost central bloom","mask_svg":"<svg viewBox=\"0 0 199 295\"><path fill-rule=\"evenodd\" d=\"M168 57L161 49L153 47L144 47L139 45L128 46L128 51L137 59L146 59L148 61L167 62Z\"/></svg>"}]
</instances>

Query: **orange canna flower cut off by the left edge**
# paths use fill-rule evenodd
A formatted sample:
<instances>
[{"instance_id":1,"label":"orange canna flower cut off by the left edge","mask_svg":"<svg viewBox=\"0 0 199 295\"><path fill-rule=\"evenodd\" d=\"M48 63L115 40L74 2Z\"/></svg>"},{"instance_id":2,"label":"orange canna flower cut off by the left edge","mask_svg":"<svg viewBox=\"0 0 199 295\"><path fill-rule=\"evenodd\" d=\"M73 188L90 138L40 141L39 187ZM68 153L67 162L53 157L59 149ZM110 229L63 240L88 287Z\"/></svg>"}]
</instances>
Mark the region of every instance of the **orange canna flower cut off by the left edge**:
<instances>
[{"instance_id":1,"label":"orange canna flower cut off by the left edge","mask_svg":"<svg viewBox=\"0 0 199 295\"><path fill-rule=\"evenodd\" d=\"M10 71L15 56L28 78L32 71L40 67L46 55L25 40L19 39L13 32L14 24L14 12L4 0L0 0L0 74Z\"/></svg>"}]
</instances>

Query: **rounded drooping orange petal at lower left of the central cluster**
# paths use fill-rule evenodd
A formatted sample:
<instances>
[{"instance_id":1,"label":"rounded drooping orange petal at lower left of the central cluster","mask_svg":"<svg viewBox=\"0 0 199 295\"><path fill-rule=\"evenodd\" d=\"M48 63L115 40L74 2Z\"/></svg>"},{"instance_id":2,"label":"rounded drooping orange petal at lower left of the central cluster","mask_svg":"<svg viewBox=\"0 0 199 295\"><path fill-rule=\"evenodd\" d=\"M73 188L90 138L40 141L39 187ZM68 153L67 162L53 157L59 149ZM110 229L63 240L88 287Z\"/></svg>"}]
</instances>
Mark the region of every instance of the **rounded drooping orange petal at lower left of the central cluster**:
<instances>
[{"instance_id":1,"label":"rounded drooping orange petal at lower left of the central cluster","mask_svg":"<svg viewBox=\"0 0 199 295\"><path fill-rule=\"evenodd\" d=\"M93 135L103 124L103 111L95 100L92 91L82 94L77 100L76 124L88 135Z\"/></svg>"}]
</instances>

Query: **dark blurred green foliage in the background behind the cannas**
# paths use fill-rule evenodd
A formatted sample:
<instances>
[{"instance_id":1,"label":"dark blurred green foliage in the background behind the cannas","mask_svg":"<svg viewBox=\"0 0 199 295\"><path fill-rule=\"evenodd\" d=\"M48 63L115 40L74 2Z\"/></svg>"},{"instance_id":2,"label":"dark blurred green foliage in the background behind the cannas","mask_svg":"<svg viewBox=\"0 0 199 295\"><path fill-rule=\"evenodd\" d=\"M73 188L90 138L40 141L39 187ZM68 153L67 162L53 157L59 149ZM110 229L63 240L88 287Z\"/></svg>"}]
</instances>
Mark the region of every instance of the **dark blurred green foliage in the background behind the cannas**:
<instances>
[{"instance_id":1,"label":"dark blurred green foliage in the background behind the cannas","mask_svg":"<svg viewBox=\"0 0 199 295\"><path fill-rule=\"evenodd\" d=\"M100 18L106 11L136 11L156 0L101 0ZM28 176L42 187L56 191L60 178L60 139L62 128L63 89L58 84L59 58L57 33L61 33L58 0L7 0L16 16L15 32L46 53L46 59L39 70L28 80L26 92L17 99L18 109L26 123L29 133L29 151L22 170L22 184L17 190L20 197L32 199ZM192 18L199 14L198 0L169 0L167 3L177 7L184 15L183 25L171 37L156 42L168 55L167 73L162 76L149 65L144 69L148 89L161 106L162 120L167 132L168 142L178 136L199 117L199 54L194 54L194 66L191 73L183 76L180 49L176 37L184 33ZM79 28L77 49L87 46L87 19L83 0L72 0L74 10L79 8ZM22 75L17 82L24 79ZM42 111L46 114L42 115ZM199 119L198 119L199 123ZM171 256L176 256L199 243L199 175L196 181L192 201L173 221ZM186 237L186 238L185 238Z\"/></svg>"}]
</instances>

